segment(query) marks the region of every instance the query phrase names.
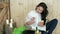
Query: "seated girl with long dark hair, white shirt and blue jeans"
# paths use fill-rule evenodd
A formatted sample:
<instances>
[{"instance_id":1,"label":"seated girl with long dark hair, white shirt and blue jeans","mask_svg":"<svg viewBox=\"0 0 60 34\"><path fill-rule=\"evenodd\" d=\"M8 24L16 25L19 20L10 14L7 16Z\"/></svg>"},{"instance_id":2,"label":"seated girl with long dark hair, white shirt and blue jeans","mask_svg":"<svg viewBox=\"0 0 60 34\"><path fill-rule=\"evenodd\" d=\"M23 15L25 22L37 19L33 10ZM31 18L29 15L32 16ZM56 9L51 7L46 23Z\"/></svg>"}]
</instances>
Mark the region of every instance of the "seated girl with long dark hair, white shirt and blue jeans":
<instances>
[{"instance_id":1,"label":"seated girl with long dark hair, white shirt and blue jeans","mask_svg":"<svg viewBox=\"0 0 60 34\"><path fill-rule=\"evenodd\" d=\"M35 29L34 27L39 27L39 26L43 27L46 24L46 31L41 31L40 29L39 31L41 31L42 34L52 34L58 23L58 20L53 19L48 23L46 23L47 16L48 16L47 5L44 2L41 2L36 6L35 10L32 10L28 13L26 17L25 25L31 29ZM41 20L44 20L44 23L42 23Z\"/></svg>"}]
</instances>

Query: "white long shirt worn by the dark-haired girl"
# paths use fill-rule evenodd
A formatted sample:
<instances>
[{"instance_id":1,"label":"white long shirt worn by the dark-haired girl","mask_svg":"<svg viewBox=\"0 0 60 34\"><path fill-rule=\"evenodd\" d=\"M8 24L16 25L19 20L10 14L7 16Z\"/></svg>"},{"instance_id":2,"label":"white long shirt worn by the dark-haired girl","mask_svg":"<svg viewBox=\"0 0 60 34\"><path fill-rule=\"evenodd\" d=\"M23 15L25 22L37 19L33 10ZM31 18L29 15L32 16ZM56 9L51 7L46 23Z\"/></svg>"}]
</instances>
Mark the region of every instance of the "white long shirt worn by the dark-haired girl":
<instances>
[{"instance_id":1,"label":"white long shirt worn by the dark-haired girl","mask_svg":"<svg viewBox=\"0 0 60 34\"><path fill-rule=\"evenodd\" d=\"M45 26L43 27L38 26L38 23L41 21L41 14L37 13L37 11L35 10L30 11L26 17L26 22L30 21L32 17L35 18L34 20L35 22L30 25L30 27L32 27L32 30L36 30L37 27L39 30L46 31Z\"/></svg>"}]
</instances>

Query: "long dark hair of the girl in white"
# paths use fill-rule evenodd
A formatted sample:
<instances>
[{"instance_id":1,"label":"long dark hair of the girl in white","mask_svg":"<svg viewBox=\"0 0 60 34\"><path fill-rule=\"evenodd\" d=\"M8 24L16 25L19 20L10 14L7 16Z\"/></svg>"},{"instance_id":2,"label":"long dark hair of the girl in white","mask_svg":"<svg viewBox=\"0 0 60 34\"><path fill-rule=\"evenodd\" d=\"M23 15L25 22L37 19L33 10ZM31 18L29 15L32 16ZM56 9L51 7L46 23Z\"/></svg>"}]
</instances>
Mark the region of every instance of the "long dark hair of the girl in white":
<instances>
[{"instance_id":1,"label":"long dark hair of the girl in white","mask_svg":"<svg viewBox=\"0 0 60 34\"><path fill-rule=\"evenodd\" d=\"M36 9L39 6L43 7L43 12L41 13L41 17L42 17L42 20L44 20L44 22L46 22L46 17L48 15L47 5L44 2L41 2L36 6Z\"/></svg>"}]
</instances>

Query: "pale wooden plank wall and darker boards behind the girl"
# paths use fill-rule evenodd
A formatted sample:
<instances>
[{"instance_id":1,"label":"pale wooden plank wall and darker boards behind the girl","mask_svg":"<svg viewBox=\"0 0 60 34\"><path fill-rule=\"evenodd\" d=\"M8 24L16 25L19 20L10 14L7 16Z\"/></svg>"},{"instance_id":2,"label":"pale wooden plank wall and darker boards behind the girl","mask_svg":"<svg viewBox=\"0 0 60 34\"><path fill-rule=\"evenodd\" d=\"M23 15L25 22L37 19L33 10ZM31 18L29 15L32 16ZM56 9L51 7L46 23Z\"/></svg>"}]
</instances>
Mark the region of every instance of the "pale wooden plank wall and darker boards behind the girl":
<instances>
[{"instance_id":1,"label":"pale wooden plank wall and darker boards behind the girl","mask_svg":"<svg viewBox=\"0 0 60 34\"><path fill-rule=\"evenodd\" d=\"M23 26L27 13L34 10L40 2L45 2L48 6L49 21L58 19L58 25L53 34L60 34L60 0L0 0L0 32L4 31L6 19L13 19L17 28Z\"/></svg>"}]
</instances>

